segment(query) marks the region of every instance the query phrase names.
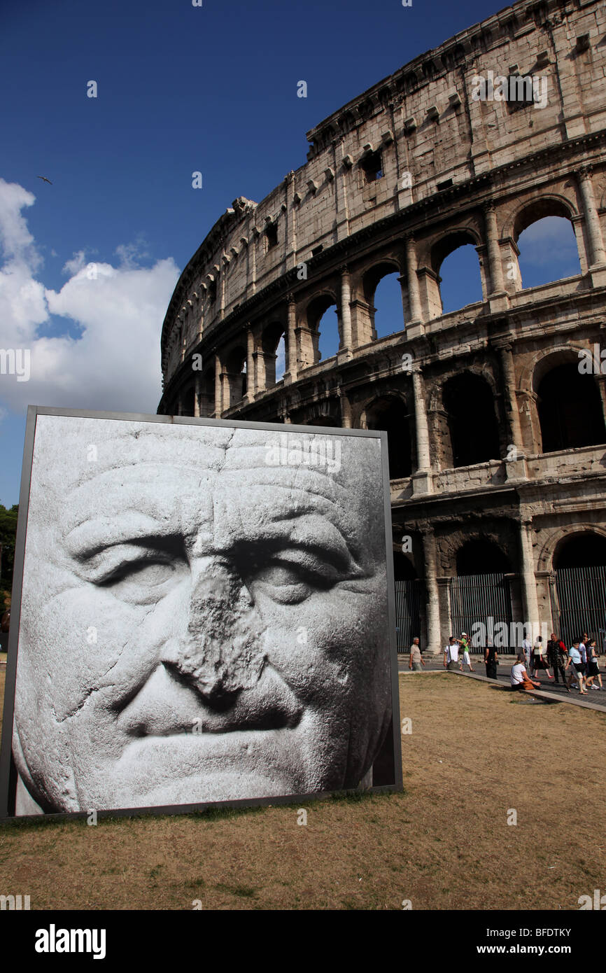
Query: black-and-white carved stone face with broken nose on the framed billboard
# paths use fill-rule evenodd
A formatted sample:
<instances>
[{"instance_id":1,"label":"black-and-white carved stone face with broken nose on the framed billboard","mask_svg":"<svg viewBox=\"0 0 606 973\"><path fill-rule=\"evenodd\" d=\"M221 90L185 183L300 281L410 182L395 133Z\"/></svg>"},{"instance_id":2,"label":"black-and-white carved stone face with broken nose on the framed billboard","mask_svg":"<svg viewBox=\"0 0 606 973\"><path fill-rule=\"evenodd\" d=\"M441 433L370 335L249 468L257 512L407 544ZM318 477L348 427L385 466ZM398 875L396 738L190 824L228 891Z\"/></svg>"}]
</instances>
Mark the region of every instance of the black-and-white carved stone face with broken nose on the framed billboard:
<instances>
[{"instance_id":1,"label":"black-and-white carved stone face with broken nose on the framed billboard","mask_svg":"<svg viewBox=\"0 0 606 973\"><path fill-rule=\"evenodd\" d=\"M18 812L306 794L368 772L391 715L379 444L339 437L338 464L282 450L276 465L277 439L38 416Z\"/></svg>"}]
</instances>

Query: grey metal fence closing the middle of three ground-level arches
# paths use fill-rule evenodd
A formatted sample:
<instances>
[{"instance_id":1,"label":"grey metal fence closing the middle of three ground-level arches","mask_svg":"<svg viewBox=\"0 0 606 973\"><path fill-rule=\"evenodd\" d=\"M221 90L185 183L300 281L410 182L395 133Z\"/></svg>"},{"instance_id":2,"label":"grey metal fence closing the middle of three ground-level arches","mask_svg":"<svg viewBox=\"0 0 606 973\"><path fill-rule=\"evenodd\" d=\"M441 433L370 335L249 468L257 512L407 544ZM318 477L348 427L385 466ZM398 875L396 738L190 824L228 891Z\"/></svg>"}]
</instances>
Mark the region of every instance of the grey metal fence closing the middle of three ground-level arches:
<instances>
[{"instance_id":1,"label":"grey metal fence closing the middle of three ground-level arches","mask_svg":"<svg viewBox=\"0 0 606 973\"><path fill-rule=\"evenodd\" d=\"M508 626L512 622L512 595L509 578L504 574L467 574L458 578L450 578L450 626L451 634L458 636L466 631L471 637L478 629L476 623L481 623L488 632L492 626L505 622ZM483 651L481 645L471 644L472 652Z\"/></svg>"}]
</instances>

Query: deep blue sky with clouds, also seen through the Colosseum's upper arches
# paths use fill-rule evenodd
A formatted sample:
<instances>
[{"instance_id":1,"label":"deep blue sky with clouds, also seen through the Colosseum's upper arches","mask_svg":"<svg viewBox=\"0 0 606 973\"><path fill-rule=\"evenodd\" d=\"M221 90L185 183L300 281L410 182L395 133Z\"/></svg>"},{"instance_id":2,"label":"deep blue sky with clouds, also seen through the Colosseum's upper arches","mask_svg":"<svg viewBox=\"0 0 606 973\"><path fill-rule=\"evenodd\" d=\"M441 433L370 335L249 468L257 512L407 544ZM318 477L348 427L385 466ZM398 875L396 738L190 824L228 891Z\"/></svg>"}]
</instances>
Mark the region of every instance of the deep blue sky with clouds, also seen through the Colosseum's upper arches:
<instances>
[{"instance_id":1,"label":"deep blue sky with clouds, also seen through the Colosseum's upper arches","mask_svg":"<svg viewBox=\"0 0 606 973\"><path fill-rule=\"evenodd\" d=\"M18 501L28 403L156 412L166 306L232 199L260 201L305 162L307 129L502 7L3 0L0 348L30 348L31 376L0 375L0 503ZM535 244L540 264L549 248ZM478 299L464 257L450 283L444 266L446 309ZM379 335L401 326L388 290Z\"/></svg>"}]
</instances>

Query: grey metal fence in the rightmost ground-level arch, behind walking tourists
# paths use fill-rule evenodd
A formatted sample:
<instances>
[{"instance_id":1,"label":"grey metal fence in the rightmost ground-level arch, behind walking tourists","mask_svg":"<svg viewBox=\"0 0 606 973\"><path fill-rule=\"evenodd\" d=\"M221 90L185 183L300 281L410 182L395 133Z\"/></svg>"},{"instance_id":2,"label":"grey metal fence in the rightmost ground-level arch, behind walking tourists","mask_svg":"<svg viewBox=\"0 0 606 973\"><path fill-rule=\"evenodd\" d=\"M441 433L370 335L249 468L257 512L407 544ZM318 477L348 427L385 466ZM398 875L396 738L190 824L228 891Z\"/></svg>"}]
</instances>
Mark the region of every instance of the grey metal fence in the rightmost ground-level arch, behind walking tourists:
<instances>
[{"instance_id":1,"label":"grey metal fence in the rightmost ground-level arch, behind walking tourists","mask_svg":"<svg viewBox=\"0 0 606 973\"><path fill-rule=\"evenodd\" d=\"M567 646L587 631L600 652L606 638L606 566L563 567L555 571L557 634Z\"/></svg>"}]
</instances>

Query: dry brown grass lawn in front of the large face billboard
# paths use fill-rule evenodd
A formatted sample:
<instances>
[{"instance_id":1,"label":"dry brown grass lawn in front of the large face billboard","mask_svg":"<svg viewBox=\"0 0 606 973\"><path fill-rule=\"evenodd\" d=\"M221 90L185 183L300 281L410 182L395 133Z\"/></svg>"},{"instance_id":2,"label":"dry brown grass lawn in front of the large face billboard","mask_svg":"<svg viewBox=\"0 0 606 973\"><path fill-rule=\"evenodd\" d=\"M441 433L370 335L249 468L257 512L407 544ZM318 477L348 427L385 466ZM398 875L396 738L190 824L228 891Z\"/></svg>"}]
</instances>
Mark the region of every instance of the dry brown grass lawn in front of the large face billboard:
<instances>
[{"instance_id":1,"label":"dry brown grass lawn in front of the large face billboard","mask_svg":"<svg viewBox=\"0 0 606 973\"><path fill-rule=\"evenodd\" d=\"M400 691L403 794L311 802L306 826L299 805L1 825L0 893L53 910L556 910L604 887L604 714L446 673Z\"/></svg>"}]
</instances>

